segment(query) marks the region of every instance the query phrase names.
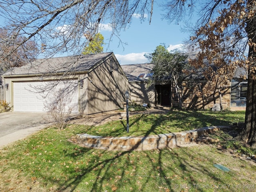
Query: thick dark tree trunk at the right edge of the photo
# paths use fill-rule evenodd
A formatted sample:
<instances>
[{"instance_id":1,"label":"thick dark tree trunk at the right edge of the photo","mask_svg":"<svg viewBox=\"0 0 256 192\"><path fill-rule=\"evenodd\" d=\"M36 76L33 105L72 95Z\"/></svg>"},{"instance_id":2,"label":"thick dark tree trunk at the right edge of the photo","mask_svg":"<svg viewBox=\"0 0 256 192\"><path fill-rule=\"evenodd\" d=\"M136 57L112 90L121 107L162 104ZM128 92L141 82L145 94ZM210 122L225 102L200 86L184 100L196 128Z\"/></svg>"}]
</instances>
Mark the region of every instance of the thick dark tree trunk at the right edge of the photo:
<instances>
[{"instance_id":1,"label":"thick dark tree trunk at the right edge of the photo","mask_svg":"<svg viewBox=\"0 0 256 192\"><path fill-rule=\"evenodd\" d=\"M248 8L255 6L255 0L247 2ZM240 133L242 140L248 142L250 146L256 147L256 12L246 23L246 32L248 39L252 42L249 44L248 60L248 86L246 98L246 113L244 128Z\"/></svg>"}]
</instances>

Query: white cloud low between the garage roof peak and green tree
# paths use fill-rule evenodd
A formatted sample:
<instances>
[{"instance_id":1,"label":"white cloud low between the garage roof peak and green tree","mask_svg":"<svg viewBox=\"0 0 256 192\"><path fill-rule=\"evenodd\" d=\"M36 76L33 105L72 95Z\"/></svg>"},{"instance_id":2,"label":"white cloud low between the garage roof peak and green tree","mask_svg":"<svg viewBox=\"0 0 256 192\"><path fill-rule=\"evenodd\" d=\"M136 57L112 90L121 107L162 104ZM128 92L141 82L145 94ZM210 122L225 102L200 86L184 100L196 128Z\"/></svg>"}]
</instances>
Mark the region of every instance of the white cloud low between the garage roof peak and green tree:
<instances>
[{"instance_id":1,"label":"white cloud low between the garage roof peak and green tree","mask_svg":"<svg viewBox=\"0 0 256 192\"><path fill-rule=\"evenodd\" d=\"M128 65L128 64L141 64L141 63L147 63L148 59L144 57L144 54L146 52L142 53L129 53L126 55L120 55L115 54L118 62L120 65Z\"/></svg>"}]
</instances>

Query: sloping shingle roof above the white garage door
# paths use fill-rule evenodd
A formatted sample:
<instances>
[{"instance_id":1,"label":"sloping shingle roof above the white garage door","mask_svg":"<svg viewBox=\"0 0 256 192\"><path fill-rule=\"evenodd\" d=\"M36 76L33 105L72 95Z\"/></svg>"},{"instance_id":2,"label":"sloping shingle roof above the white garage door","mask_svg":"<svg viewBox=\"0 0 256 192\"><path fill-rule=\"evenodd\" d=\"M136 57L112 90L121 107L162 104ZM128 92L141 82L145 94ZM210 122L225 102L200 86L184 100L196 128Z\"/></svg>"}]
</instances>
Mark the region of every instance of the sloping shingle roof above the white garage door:
<instances>
[{"instance_id":1,"label":"sloping shingle roof above the white garage door","mask_svg":"<svg viewBox=\"0 0 256 192\"><path fill-rule=\"evenodd\" d=\"M22 67L12 68L12 70L5 72L4 76L88 71L111 54L113 53L37 59Z\"/></svg>"}]
</instances>

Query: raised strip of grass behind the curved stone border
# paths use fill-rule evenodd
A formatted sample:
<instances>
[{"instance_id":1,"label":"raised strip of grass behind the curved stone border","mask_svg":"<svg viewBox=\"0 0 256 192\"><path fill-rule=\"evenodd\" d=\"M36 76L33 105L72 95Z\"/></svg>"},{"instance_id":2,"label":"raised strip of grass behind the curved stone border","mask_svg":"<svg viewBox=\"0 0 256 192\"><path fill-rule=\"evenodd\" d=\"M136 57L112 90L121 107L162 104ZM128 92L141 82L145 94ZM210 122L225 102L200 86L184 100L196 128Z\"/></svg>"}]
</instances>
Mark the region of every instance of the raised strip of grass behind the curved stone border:
<instances>
[{"instance_id":1,"label":"raised strip of grass behind the curved stone border","mask_svg":"<svg viewBox=\"0 0 256 192\"><path fill-rule=\"evenodd\" d=\"M206 126L230 125L244 122L244 111L172 111L168 114L137 114L129 118L129 133L126 120L113 121L102 126L80 126L83 132L96 136L147 136L193 130ZM77 127L76 125L73 126Z\"/></svg>"}]
</instances>

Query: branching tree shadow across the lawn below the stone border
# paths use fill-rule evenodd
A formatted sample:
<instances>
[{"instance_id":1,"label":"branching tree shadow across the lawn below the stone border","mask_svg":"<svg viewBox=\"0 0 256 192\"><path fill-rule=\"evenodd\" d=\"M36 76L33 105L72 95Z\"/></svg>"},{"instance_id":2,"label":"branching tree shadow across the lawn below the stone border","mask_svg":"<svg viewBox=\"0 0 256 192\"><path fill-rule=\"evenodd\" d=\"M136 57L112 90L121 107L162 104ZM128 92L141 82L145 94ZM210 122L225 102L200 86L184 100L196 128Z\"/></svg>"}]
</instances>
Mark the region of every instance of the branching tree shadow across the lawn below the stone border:
<instances>
[{"instance_id":1,"label":"branching tree shadow across the lawn below the stone border","mask_svg":"<svg viewBox=\"0 0 256 192\"><path fill-rule=\"evenodd\" d=\"M90 157L90 163L80 168L75 178L58 184L61 186L58 190L79 191L84 188L84 191L91 192L160 189L177 191L178 185L178 191L182 190L182 187L206 191L206 188L214 188L216 185L224 186L224 184L232 185L240 182L233 180L238 173L221 172L214 168L213 164L222 162L219 159L225 157L224 154L217 152L215 158L212 154L216 154L216 150L209 146L130 152L87 149L84 152L94 154ZM231 166L230 162L226 166ZM69 169L66 174L73 172L74 170ZM83 183L89 183L89 187L86 188L87 185Z\"/></svg>"}]
</instances>

